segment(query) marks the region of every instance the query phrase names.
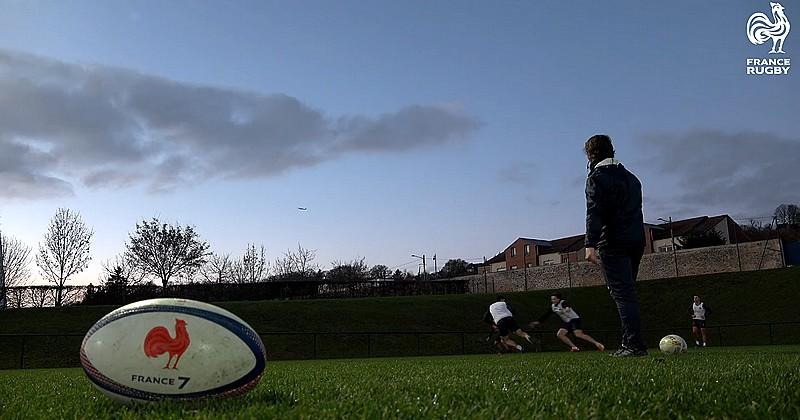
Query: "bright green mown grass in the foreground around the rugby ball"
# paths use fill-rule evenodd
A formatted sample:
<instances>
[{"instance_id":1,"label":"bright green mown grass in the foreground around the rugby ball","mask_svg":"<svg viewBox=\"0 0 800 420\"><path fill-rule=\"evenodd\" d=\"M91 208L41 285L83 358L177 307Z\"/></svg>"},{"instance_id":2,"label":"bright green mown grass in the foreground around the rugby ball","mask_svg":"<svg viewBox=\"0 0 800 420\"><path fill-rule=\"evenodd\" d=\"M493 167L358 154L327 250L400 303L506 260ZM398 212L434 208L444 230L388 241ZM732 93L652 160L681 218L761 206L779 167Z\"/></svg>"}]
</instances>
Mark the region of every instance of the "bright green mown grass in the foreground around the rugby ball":
<instances>
[{"instance_id":1,"label":"bright green mown grass in the foreground around the rugby ball","mask_svg":"<svg viewBox=\"0 0 800 420\"><path fill-rule=\"evenodd\" d=\"M230 400L126 407L80 369L0 371L3 418L800 418L800 347L275 362Z\"/></svg>"}]
</instances>

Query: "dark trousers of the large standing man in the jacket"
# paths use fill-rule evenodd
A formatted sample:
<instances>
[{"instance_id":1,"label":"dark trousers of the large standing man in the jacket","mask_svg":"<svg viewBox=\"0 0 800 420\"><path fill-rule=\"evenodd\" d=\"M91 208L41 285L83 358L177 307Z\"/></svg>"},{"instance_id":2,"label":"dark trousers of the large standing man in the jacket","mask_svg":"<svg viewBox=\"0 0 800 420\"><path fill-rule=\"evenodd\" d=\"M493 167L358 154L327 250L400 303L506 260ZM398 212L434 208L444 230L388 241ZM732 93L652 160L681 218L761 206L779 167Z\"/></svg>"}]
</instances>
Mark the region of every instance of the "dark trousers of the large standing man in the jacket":
<instances>
[{"instance_id":1,"label":"dark trousers of the large standing man in the jacket","mask_svg":"<svg viewBox=\"0 0 800 420\"><path fill-rule=\"evenodd\" d=\"M622 345L635 350L646 349L642 339L639 301L636 299L636 275L644 246L636 248L604 248L600 253L601 270L622 322Z\"/></svg>"}]
</instances>

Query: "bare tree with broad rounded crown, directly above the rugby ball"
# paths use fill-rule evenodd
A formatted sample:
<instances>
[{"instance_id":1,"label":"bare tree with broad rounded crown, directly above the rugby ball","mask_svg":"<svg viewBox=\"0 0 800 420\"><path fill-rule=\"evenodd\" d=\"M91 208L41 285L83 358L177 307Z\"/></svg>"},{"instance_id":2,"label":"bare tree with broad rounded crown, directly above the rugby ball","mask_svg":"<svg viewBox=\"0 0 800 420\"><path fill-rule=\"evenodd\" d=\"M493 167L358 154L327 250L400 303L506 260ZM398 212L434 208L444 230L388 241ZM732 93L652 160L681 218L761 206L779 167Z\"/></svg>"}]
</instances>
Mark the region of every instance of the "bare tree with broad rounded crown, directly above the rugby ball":
<instances>
[{"instance_id":1,"label":"bare tree with broad rounded crown, directly above the rugby ball","mask_svg":"<svg viewBox=\"0 0 800 420\"><path fill-rule=\"evenodd\" d=\"M164 288L171 278L201 267L208 255L208 243L200 240L192 226L162 224L156 218L137 223L129 239L125 257L159 278Z\"/></svg>"}]
</instances>

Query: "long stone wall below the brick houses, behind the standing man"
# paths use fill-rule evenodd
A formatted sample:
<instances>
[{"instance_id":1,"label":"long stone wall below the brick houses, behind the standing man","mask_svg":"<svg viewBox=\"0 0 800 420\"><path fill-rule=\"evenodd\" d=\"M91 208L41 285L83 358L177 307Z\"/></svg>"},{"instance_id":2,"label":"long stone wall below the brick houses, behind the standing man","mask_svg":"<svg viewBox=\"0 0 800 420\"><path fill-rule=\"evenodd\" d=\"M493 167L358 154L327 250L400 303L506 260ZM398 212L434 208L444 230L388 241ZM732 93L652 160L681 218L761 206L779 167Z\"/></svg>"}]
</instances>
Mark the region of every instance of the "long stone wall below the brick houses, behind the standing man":
<instances>
[{"instance_id":1,"label":"long stone wall below the brick houses, behind the standing man","mask_svg":"<svg viewBox=\"0 0 800 420\"><path fill-rule=\"evenodd\" d=\"M766 245L766 248L765 248ZM753 271L784 266L780 241L747 242L675 253L647 254L639 266L639 280L696 276L711 273ZM738 257L737 257L738 255ZM763 262L762 262L763 255ZM676 264L677 260L677 275ZM740 268L741 264L741 268ZM469 281L472 293L518 292L538 289L599 286L604 284L597 266L587 263L554 264L461 277Z\"/></svg>"}]
</instances>

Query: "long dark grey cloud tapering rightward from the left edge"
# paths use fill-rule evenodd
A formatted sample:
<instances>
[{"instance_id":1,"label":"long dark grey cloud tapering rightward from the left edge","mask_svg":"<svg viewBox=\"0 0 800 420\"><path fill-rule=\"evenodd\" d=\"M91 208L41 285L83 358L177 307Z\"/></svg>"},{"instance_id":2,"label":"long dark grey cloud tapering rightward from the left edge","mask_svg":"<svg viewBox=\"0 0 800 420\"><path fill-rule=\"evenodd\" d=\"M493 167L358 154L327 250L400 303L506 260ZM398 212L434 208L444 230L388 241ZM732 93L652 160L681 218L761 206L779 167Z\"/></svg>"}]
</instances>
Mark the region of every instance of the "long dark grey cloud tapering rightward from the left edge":
<instances>
[{"instance_id":1,"label":"long dark grey cloud tapering rightward from the left edge","mask_svg":"<svg viewBox=\"0 0 800 420\"><path fill-rule=\"evenodd\" d=\"M452 106L329 117L285 94L201 86L0 50L0 196L92 188L169 191L268 178L353 153L464 141Z\"/></svg>"}]
</instances>

